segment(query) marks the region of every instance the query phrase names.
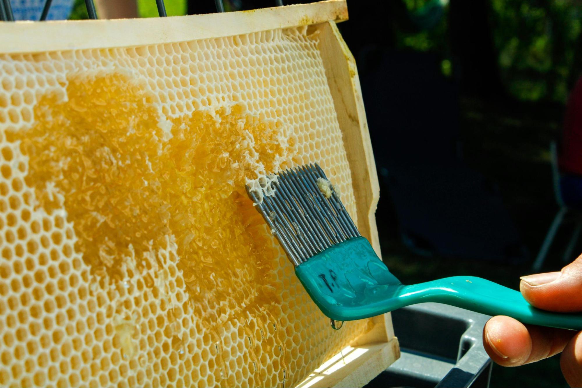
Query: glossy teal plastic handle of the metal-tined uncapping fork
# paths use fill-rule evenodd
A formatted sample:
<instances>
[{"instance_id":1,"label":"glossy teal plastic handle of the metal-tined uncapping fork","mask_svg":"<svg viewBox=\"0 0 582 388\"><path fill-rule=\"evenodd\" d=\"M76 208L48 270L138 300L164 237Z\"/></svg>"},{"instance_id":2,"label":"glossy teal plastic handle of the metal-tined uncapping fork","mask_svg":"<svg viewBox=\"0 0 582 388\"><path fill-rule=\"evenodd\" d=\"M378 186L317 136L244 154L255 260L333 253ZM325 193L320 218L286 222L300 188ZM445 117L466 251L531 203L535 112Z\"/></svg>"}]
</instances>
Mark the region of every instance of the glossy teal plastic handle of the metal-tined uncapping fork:
<instances>
[{"instance_id":1,"label":"glossy teal plastic handle of the metal-tined uncapping fork","mask_svg":"<svg viewBox=\"0 0 582 388\"><path fill-rule=\"evenodd\" d=\"M406 286L377 257L363 237L350 239L295 268L321 311L336 321L353 321L423 302L438 302L523 323L582 330L582 314L548 312L521 293L474 276L454 276Z\"/></svg>"}]
</instances>

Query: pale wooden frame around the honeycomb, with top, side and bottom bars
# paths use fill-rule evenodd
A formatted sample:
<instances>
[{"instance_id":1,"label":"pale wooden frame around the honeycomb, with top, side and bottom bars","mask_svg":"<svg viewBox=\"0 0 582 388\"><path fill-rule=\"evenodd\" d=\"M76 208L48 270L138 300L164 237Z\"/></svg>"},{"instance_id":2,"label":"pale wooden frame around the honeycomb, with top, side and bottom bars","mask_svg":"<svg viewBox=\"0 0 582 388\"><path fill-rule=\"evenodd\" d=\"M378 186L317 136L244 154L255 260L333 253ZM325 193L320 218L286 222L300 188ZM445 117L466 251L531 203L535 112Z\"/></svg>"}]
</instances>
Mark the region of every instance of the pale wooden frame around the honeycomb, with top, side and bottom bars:
<instances>
[{"instance_id":1,"label":"pale wooden frame around the honeycomb, with top, side and bottom bars","mask_svg":"<svg viewBox=\"0 0 582 388\"><path fill-rule=\"evenodd\" d=\"M210 15L157 19L66 22L0 22L0 54L70 49L132 47L225 37L295 26L319 34L325 74L343 134L357 203L358 227L380 255L374 212L378 177L361 97L356 62L335 22L347 19L345 0ZM66 37L59 39L58 37ZM113 42L113 43L112 43ZM363 386L399 357L389 314L342 353L311 373L300 386Z\"/></svg>"}]
</instances>

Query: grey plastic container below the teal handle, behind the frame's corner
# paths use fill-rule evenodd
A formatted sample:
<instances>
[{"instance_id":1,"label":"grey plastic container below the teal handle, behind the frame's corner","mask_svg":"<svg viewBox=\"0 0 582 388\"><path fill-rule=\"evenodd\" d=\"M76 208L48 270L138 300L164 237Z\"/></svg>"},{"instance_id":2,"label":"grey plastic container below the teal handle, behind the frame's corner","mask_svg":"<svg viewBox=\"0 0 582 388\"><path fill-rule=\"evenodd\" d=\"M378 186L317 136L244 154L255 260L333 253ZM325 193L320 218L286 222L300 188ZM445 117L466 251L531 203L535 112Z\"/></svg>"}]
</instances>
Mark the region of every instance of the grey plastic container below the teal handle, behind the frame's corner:
<instances>
[{"instance_id":1,"label":"grey plastic container below the teal handle, behind the frame's corner","mask_svg":"<svg viewBox=\"0 0 582 388\"><path fill-rule=\"evenodd\" d=\"M366 387L488 387L482 330L489 318L438 303L393 311L400 358Z\"/></svg>"}]
</instances>

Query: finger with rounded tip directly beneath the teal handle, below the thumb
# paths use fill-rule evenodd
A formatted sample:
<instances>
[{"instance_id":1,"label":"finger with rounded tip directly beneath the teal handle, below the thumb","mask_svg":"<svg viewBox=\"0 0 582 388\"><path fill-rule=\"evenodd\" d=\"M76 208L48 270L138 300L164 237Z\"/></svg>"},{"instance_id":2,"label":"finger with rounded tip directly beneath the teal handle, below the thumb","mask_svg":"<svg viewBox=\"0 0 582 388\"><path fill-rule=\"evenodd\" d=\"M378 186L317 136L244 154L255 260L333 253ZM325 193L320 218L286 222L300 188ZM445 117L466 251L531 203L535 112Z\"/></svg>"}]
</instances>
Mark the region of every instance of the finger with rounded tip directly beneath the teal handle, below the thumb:
<instances>
[{"instance_id":1,"label":"finger with rounded tip directly beneath the teal handle, below the thumb","mask_svg":"<svg viewBox=\"0 0 582 388\"><path fill-rule=\"evenodd\" d=\"M560 353L573 330L524 325L509 316L494 316L483 330L483 346L493 361L519 366Z\"/></svg>"}]
</instances>

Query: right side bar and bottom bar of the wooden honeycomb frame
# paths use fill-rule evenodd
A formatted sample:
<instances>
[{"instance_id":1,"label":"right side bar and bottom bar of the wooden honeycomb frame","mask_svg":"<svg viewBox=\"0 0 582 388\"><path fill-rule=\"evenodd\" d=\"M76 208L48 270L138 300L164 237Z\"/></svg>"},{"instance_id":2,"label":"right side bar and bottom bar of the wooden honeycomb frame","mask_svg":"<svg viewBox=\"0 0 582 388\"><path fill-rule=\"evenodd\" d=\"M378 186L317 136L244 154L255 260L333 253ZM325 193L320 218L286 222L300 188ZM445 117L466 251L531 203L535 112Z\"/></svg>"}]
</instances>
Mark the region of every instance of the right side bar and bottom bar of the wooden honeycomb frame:
<instances>
[{"instance_id":1,"label":"right side bar and bottom bar of the wooden honeycomb frame","mask_svg":"<svg viewBox=\"0 0 582 388\"><path fill-rule=\"evenodd\" d=\"M320 54L333 98L356 196L358 229L381 257L375 211L380 188L356 60L335 22L310 26L320 39ZM320 368L300 387L363 386L400 357L390 313L373 319L374 328Z\"/></svg>"}]
</instances>

